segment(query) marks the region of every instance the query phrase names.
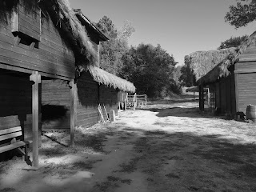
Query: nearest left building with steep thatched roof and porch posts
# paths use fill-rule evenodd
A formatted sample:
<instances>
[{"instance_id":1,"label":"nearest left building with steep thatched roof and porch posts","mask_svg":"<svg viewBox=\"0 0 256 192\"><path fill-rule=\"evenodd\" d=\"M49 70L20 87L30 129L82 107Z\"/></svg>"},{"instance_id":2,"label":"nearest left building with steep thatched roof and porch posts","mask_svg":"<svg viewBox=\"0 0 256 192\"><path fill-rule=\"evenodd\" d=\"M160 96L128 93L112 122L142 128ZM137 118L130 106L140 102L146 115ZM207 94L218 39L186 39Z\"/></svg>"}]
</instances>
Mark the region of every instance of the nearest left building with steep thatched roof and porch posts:
<instances>
[{"instance_id":1,"label":"nearest left building with steep thatched roof and porch posts","mask_svg":"<svg viewBox=\"0 0 256 192\"><path fill-rule=\"evenodd\" d=\"M41 83L50 80L65 86L68 99L58 101L69 103L74 146L75 70L97 64L92 47L66 0L0 2L0 130L22 126L21 139L33 140L34 166L38 166L41 102L54 101L47 98L51 90L42 91Z\"/></svg>"}]
</instances>

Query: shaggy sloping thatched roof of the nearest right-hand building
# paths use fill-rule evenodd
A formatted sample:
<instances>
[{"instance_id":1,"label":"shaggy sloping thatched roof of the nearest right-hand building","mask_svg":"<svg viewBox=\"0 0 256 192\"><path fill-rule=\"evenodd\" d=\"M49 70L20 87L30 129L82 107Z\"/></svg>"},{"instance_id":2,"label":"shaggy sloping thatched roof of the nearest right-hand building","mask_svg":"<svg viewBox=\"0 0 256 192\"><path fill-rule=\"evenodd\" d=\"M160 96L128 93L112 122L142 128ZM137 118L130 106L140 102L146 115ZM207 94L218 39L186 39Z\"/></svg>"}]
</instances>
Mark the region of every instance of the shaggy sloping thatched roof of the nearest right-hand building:
<instances>
[{"instance_id":1,"label":"shaggy sloping thatched roof of the nearest right-hand building","mask_svg":"<svg viewBox=\"0 0 256 192\"><path fill-rule=\"evenodd\" d=\"M226 77L230 74L229 67L239 61L239 55L242 54L248 46L256 42L256 31L250 35L242 45L238 47L236 54L230 54L228 57L219 62L212 70L198 80L199 84L215 82L219 78Z\"/></svg>"}]
</instances>

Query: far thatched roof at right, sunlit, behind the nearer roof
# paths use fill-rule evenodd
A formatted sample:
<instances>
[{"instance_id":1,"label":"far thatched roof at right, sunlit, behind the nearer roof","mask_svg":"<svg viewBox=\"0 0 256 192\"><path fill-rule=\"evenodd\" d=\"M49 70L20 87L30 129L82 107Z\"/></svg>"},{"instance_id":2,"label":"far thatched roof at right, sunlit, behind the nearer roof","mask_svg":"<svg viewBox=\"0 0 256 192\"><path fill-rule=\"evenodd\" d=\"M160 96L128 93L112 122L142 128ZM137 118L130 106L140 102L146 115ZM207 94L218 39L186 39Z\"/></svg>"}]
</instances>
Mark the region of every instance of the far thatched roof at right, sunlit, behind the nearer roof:
<instances>
[{"instance_id":1,"label":"far thatched roof at right, sunlit, behind the nearer roof","mask_svg":"<svg viewBox=\"0 0 256 192\"><path fill-rule=\"evenodd\" d=\"M222 50L196 51L189 55L190 69L193 70L196 80L202 78L214 66L222 62L230 54L236 53L236 48Z\"/></svg>"}]
</instances>

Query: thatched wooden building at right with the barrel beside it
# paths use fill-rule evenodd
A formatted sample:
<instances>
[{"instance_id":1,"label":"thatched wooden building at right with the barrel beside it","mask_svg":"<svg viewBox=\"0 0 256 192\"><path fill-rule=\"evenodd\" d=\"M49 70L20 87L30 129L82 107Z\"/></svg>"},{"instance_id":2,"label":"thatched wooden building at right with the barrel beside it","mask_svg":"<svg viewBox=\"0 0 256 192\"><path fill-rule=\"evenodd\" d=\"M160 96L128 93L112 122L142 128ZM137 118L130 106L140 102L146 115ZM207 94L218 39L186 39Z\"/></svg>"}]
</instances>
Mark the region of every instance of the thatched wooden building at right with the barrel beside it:
<instances>
[{"instance_id":1,"label":"thatched wooden building at right with the barrel beside it","mask_svg":"<svg viewBox=\"0 0 256 192\"><path fill-rule=\"evenodd\" d=\"M198 80L200 87L209 86L215 108L234 117L246 114L246 106L256 105L256 32L217 66Z\"/></svg>"}]
</instances>

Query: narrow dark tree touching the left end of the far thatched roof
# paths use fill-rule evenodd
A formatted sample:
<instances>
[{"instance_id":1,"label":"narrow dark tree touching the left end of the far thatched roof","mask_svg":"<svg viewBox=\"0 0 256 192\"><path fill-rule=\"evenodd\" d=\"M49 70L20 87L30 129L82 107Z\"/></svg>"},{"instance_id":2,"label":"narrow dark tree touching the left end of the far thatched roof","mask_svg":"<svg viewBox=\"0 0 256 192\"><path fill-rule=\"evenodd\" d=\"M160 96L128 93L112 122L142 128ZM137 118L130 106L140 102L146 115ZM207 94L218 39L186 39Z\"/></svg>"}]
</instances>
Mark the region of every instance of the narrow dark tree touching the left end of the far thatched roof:
<instances>
[{"instance_id":1,"label":"narrow dark tree touching the left end of the far thatched roof","mask_svg":"<svg viewBox=\"0 0 256 192\"><path fill-rule=\"evenodd\" d=\"M194 76L193 70L190 68L190 57L188 55L184 58L185 65L182 66L181 76L178 80L181 82L182 86L196 86L196 78Z\"/></svg>"}]
</instances>

